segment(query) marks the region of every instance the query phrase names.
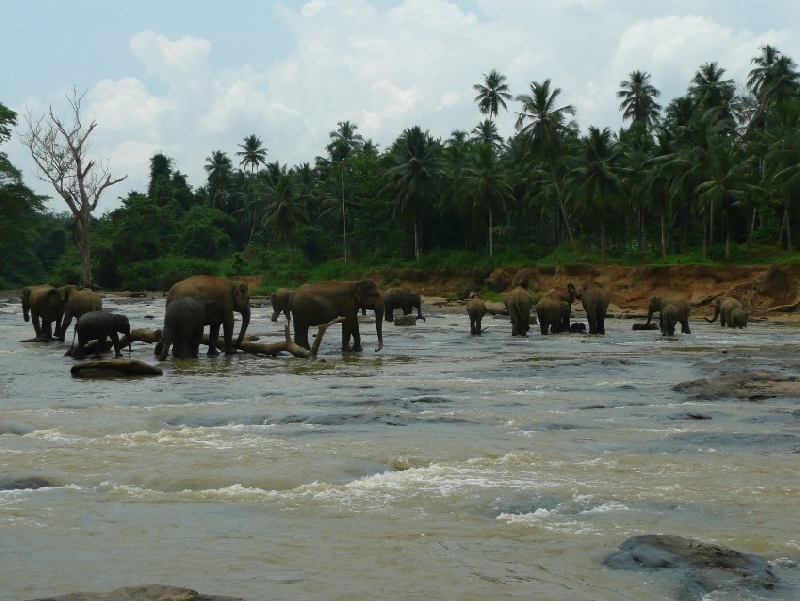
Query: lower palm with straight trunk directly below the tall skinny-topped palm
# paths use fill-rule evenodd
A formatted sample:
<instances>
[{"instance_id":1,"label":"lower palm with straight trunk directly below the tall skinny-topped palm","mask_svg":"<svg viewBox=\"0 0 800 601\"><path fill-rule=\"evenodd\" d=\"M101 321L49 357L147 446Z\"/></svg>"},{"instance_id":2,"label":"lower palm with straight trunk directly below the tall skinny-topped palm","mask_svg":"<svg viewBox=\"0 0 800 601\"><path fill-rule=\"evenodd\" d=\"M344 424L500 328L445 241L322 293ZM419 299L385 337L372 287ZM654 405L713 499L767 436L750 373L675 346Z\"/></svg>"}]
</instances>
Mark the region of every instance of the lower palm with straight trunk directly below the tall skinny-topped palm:
<instances>
[{"instance_id":1,"label":"lower palm with straight trunk directly below the tall skinny-topped palm","mask_svg":"<svg viewBox=\"0 0 800 601\"><path fill-rule=\"evenodd\" d=\"M461 177L457 194L473 217L488 213L489 256L493 252L493 215L505 211L513 190L505 179L502 164L491 144L478 143L470 166Z\"/></svg>"}]
</instances>

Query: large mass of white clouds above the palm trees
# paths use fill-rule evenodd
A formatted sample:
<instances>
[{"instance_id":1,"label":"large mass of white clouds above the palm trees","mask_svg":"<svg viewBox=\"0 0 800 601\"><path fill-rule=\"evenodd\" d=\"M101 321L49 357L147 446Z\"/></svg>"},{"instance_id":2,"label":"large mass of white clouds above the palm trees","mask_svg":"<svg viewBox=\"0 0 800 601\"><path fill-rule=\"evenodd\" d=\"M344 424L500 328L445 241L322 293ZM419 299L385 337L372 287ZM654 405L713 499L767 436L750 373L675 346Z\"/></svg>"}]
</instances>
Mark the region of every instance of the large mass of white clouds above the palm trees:
<instances>
[{"instance_id":1,"label":"large mass of white clouds above the palm trees","mask_svg":"<svg viewBox=\"0 0 800 601\"><path fill-rule=\"evenodd\" d=\"M725 7L688 0L313 0L255 10L264 55L223 56L241 34L213 24L205 35L185 35L186 26L174 23L127 31L137 62L104 70L85 104L98 122L93 148L108 157L112 173L129 174L123 186L146 189L155 152L201 186L205 157L223 150L234 159L250 134L262 138L270 161L313 162L344 120L381 148L414 125L447 138L484 118L472 86L491 69L506 75L513 96L551 79L583 128L615 130L616 92L634 70L651 73L666 104L685 93L705 62L743 80L764 44L800 59L790 30L758 29L753 14L737 25L738 15ZM291 40L280 52L271 48L275 24ZM47 106L51 98L54 108L65 107L63 79L53 81L49 96L24 102ZM517 110L512 100L498 116L501 135L513 133ZM15 162L21 156L9 152ZM30 170L27 164L23 157L19 166Z\"/></svg>"}]
</instances>

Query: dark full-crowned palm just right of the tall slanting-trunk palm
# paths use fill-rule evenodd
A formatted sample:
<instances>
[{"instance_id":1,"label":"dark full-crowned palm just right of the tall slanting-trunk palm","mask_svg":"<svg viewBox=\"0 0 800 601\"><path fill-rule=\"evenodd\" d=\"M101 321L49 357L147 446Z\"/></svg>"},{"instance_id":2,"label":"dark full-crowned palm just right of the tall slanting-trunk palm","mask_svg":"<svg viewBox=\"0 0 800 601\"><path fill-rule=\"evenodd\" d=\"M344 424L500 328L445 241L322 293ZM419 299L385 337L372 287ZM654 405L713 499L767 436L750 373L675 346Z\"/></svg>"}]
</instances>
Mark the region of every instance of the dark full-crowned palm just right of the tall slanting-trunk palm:
<instances>
[{"instance_id":1,"label":"dark full-crowned palm just right of the tall slanting-trunk palm","mask_svg":"<svg viewBox=\"0 0 800 601\"><path fill-rule=\"evenodd\" d=\"M617 151L606 128L589 128L580 140L580 153L570 173L570 191L575 198L597 211L600 221L600 258L606 258L605 215L625 196L622 181L617 175ZM587 219L591 222L591 219Z\"/></svg>"}]
</instances>

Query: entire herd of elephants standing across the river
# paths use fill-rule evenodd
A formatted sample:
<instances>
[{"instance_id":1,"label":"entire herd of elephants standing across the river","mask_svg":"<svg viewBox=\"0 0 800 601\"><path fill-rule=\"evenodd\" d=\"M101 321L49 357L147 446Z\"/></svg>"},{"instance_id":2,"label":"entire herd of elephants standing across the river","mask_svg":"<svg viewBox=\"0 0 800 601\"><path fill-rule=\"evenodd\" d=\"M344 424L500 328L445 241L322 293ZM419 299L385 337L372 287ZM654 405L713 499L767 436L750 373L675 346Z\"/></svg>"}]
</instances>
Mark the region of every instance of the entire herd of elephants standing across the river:
<instances>
[{"instance_id":1,"label":"entire herd of elephants standing across the river","mask_svg":"<svg viewBox=\"0 0 800 601\"><path fill-rule=\"evenodd\" d=\"M530 293L518 286L506 294L505 308L511 320L512 336L527 336L531 323L531 312L535 309L536 320L543 335L560 332L586 332L583 323L570 324L572 303L579 299L583 304L589 334L605 334L605 317L610 302L609 293L602 284L588 282L576 289L570 282L548 292L535 305ZM414 318L422 315L422 299L419 294L400 288L391 288L385 293L374 280L329 281L304 284L296 290L279 288L271 298L272 321L283 313L293 324L294 341L309 349L308 330L344 317L342 323L342 351L361 351L361 333L358 313L375 312L375 332L380 351L383 348L383 321L392 321L395 310L409 316L416 309ZM474 294L466 303L470 320L470 333L480 335L482 319L486 315L486 303ZM681 332L690 334L690 306L686 299L678 296L653 297L648 307L649 329L654 313L659 314L659 328L664 335L673 336L678 323ZM101 343L111 338L114 354L121 357L119 334L128 337L130 353L131 327L125 315L103 311L102 297L90 289L79 289L67 285L55 288L50 285L29 286L22 291L22 312L25 321L32 321L37 340L56 338L65 341L67 329L73 318L77 319L73 346L70 354L81 357L91 341ZM234 312L241 315L241 328L236 341L233 340ZM719 317L722 327L744 328L748 314L742 304L733 297L720 297L715 304L714 316ZM165 360L170 348L176 358L196 358L203 338L205 326L209 326L208 355L219 354L217 340L220 327L223 331L225 352L235 353L244 340L250 324L250 292L247 284L222 277L197 275L181 280L170 288L166 296L164 328L161 341L156 344L155 354ZM639 325L639 324L637 324ZM55 329L53 329L55 326ZM74 345L75 337L78 339Z\"/></svg>"}]
</instances>

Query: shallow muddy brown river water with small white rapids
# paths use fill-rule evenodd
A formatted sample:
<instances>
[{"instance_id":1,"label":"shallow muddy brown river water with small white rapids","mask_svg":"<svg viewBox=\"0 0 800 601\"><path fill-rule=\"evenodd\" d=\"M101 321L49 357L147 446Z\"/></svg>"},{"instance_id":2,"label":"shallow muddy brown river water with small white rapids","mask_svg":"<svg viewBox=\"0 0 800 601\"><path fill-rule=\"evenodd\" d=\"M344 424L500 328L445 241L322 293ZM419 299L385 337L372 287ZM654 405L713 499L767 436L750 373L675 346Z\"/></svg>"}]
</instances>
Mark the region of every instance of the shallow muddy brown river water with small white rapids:
<instances>
[{"instance_id":1,"label":"shallow muddy brown river water with small white rapids","mask_svg":"<svg viewBox=\"0 0 800 601\"><path fill-rule=\"evenodd\" d=\"M116 302L160 327L163 300ZM773 349L796 356L796 327L512 339L493 318L473 338L466 312L426 313L386 324L380 353L362 324L357 356L334 327L324 362L202 356L84 380L68 345L21 343L32 327L0 304L0 488L49 484L0 491L0 598L158 582L248 601L676 599L604 557L649 533L800 556L798 399L673 390L787 372ZM280 339L270 316L254 308L248 333ZM157 363L152 345L132 357Z\"/></svg>"}]
</instances>

